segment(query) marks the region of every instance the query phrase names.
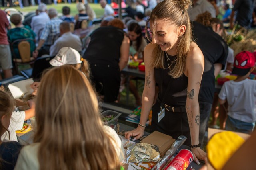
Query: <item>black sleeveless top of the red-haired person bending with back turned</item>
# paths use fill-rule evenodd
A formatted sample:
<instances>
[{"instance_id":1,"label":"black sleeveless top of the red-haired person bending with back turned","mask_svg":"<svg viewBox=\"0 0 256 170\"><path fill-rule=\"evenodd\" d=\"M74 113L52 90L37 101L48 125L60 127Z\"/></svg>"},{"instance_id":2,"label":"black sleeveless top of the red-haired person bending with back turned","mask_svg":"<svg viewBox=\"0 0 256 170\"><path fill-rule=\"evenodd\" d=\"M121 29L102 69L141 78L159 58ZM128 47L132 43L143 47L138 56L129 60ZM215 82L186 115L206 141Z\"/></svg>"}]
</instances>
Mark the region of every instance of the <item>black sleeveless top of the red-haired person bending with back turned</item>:
<instances>
[{"instance_id":1,"label":"black sleeveless top of the red-haired person bending with back turned","mask_svg":"<svg viewBox=\"0 0 256 170\"><path fill-rule=\"evenodd\" d=\"M124 39L124 31L108 26L96 29L83 58L90 64L106 64L119 68L120 47Z\"/></svg>"}]
</instances>

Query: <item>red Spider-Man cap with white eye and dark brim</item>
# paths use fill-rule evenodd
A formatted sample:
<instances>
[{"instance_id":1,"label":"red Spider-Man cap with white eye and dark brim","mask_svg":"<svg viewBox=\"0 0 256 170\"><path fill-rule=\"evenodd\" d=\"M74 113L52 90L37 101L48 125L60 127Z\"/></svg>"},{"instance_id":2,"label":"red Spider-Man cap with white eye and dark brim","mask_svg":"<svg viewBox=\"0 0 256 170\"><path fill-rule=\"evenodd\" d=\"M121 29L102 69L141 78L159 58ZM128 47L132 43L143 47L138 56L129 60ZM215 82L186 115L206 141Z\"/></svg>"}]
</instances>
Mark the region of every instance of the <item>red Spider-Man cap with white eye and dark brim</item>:
<instances>
[{"instance_id":1,"label":"red Spider-Man cap with white eye and dark brim","mask_svg":"<svg viewBox=\"0 0 256 170\"><path fill-rule=\"evenodd\" d=\"M242 51L238 53L234 60L234 68L232 74L238 76L246 75L250 69L255 65L255 57L249 51Z\"/></svg>"}]
</instances>

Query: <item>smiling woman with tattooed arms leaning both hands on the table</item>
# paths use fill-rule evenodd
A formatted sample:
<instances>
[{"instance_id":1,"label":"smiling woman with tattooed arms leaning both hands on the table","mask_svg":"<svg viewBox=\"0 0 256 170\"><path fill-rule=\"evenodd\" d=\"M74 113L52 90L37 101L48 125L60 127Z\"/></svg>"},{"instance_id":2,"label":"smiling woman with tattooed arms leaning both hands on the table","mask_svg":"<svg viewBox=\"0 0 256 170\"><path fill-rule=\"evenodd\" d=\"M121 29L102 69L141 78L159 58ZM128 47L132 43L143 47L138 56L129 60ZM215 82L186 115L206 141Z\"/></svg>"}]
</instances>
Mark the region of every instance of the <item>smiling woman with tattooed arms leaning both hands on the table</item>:
<instances>
[{"instance_id":1,"label":"smiling woman with tattooed arms leaning both hands on the table","mask_svg":"<svg viewBox=\"0 0 256 170\"><path fill-rule=\"evenodd\" d=\"M160 131L177 139L185 135L194 161L207 161L207 154L199 143L198 93L204 70L204 56L192 42L187 9L190 0L164 0L152 11L150 29L152 42L145 47L145 86L142 94L140 123L125 137L143 136L146 121L153 104L155 84L159 86L158 99L152 107L150 131ZM165 10L162 10L165 9Z\"/></svg>"}]
</instances>

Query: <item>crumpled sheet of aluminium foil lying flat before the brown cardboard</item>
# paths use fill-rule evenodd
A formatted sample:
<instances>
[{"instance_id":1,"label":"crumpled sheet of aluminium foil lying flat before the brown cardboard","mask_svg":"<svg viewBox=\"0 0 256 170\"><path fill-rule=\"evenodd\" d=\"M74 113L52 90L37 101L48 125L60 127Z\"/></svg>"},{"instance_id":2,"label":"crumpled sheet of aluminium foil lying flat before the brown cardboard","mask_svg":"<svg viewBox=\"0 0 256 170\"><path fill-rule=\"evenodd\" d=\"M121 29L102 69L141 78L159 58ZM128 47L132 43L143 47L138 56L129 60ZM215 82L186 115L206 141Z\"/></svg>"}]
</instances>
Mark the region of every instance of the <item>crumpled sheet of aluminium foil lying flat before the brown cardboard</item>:
<instances>
[{"instance_id":1,"label":"crumpled sheet of aluminium foil lying flat before the brown cardboard","mask_svg":"<svg viewBox=\"0 0 256 170\"><path fill-rule=\"evenodd\" d=\"M158 162L160 154L156 145L148 143L127 144L127 162Z\"/></svg>"}]
</instances>

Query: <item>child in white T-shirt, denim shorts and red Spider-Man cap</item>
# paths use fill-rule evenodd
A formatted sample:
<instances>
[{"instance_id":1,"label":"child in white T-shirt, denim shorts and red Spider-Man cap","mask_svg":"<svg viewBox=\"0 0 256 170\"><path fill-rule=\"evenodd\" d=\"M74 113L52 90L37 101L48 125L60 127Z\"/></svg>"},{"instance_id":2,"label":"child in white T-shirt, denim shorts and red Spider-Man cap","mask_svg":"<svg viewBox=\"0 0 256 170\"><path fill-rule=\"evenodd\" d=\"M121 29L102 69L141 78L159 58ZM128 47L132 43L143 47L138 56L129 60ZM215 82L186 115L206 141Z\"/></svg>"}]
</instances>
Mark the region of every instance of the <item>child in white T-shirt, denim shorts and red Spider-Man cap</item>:
<instances>
[{"instance_id":1,"label":"child in white T-shirt, denim shorts and red Spider-Man cap","mask_svg":"<svg viewBox=\"0 0 256 170\"><path fill-rule=\"evenodd\" d=\"M236 55L232 74L236 80L225 82L219 93L219 102L228 102L226 130L252 133L256 121L256 81L248 79L255 68L255 57L249 51Z\"/></svg>"}]
</instances>

